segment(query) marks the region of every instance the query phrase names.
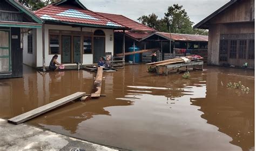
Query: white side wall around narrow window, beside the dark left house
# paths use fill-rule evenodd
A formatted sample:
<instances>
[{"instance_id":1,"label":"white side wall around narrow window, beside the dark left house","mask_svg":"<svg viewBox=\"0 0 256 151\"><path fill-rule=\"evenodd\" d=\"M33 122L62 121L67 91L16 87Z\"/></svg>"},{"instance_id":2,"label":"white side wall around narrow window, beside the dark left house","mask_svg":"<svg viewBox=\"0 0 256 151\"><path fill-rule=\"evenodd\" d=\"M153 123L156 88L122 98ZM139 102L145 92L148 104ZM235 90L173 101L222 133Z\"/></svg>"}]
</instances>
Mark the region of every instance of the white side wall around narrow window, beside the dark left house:
<instances>
[{"instance_id":1,"label":"white side wall around narrow window, beside the dark left house","mask_svg":"<svg viewBox=\"0 0 256 151\"><path fill-rule=\"evenodd\" d=\"M36 56L37 56L37 33L36 29L32 30L32 46L33 51L32 54L28 53L28 34L23 36L23 63L31 66L36 67Z\"/></svg>"}]
</instances>

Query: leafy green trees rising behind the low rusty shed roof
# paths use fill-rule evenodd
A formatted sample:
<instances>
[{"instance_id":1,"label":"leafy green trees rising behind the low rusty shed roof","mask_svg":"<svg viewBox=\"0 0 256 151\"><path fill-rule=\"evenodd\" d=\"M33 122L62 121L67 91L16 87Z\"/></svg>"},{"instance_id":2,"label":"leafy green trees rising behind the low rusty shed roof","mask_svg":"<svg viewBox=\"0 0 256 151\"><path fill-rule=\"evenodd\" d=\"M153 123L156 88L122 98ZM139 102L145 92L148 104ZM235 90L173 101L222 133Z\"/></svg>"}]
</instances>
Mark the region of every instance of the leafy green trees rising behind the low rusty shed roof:
<instances>
[{"instance_id":1,"label":"leafy green trees rising behind the low rusty shed roof","mask_svg":"<svg viewBox=\"0 0 256 151\"><path fill-rule=\"evenodd\" d=\"M204 34L208 31L193 29L193 22L187 15L183 6L173 4L169 6L164 18L158 19L158 16L152 13L149 16L139 17L140 23L152 27L160 32L184 33L184 34ZM170 27L170 31L169 31Z\"/></svg>"}]
</instances>

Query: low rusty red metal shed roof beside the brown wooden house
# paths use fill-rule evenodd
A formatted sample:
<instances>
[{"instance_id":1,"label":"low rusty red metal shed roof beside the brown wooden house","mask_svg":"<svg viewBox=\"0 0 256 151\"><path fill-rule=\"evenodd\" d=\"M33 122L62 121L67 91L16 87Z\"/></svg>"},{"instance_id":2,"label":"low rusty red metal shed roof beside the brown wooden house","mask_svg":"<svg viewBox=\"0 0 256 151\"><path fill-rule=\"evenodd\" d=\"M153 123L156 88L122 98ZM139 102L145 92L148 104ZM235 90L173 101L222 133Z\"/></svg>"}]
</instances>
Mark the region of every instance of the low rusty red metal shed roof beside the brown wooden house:
<instances>
[{"instance_id":1,"label":"low rusty red metal shed roof beside the brown wooden house","mask_svg":"<svg viewBox=\"0 0 256 151\"><path fill-rule=\"evenodd\" d=\"M179 33L165 33L156 32L155 34L163 36L167 39L175 41L208 41L208 35L194 35L194 34L179 34Z\"/></svg>"}]
</instances>

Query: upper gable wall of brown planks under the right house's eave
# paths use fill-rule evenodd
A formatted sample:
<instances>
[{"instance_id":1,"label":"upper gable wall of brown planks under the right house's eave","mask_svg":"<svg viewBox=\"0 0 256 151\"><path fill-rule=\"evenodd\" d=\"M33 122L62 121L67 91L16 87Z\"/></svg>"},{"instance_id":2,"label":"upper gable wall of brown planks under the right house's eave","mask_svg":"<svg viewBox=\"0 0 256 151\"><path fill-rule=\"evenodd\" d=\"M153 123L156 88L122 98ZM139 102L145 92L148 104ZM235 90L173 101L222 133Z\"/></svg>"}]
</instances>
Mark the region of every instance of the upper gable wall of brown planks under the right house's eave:
<instances>
[{"instance_id":1,"label":"upper gable wall of brown planks under the right house's eave","mask_svg":"<svg viewBox=\"0 0 256 151\"><path fill-rule=\"evenodd\" d=\"M210 24L254 20L254 0L242 0L215 16Z\"/></svg>"}]
</instances>

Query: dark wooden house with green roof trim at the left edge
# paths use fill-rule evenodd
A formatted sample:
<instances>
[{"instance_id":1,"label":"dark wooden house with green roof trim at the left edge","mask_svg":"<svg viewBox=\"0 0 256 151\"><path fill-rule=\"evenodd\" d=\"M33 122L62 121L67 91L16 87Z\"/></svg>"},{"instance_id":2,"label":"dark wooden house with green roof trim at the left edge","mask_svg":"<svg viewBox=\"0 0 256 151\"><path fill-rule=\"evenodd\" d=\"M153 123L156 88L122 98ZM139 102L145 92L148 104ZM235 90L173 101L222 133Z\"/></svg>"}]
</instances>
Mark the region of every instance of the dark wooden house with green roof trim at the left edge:
<instances>
[{"instance_id":1,"label":"dark wooden house with green roof trim at the left edge","mask_svg":"<svg viewBox=\"0 0 256 151\"><path fill-rule=\"evenodd\" d=\"M0 1L0 78L23 76L21 33L41 28L42 21L15 0Z\"/></svg>"}]
</instances>

